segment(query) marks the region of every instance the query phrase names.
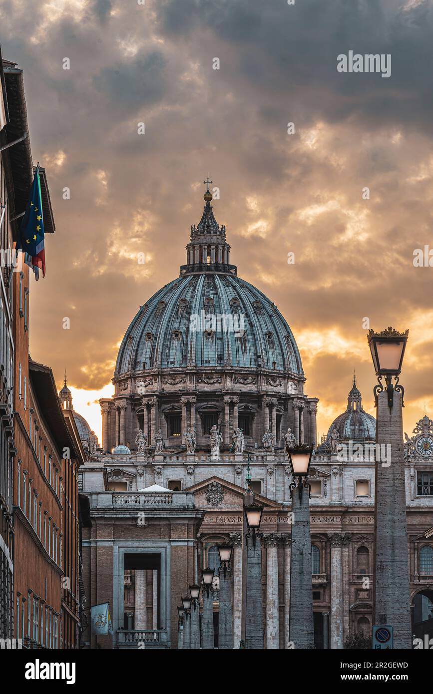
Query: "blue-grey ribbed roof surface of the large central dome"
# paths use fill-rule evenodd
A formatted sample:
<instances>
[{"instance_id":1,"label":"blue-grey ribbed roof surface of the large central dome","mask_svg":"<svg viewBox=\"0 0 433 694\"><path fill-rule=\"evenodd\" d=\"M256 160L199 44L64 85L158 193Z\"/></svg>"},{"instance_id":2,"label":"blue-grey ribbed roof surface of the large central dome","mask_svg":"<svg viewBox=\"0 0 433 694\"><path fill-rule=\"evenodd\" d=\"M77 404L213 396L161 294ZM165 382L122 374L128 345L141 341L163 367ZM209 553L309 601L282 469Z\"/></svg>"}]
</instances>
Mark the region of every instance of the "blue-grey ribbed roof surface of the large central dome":
<instances>
[{"instance_id":1,"label":"blue-grey ribbed roof surface of the large central dome","mask_svg":"<svg viewBox=\"0 0 433 694\"><path fill-rule=\"evenodd\" d=\"M215 316L213 326L205 321L209 314ZM219 314L226 319L218 321ZM224 330L230 319L244 335ZM269 298L230 273L204 272L173 280L140 307L121 343L114 375L180 366L257 369L260 362L264 369L303 375L294 336Z\"/></svg>"}]
</instances>

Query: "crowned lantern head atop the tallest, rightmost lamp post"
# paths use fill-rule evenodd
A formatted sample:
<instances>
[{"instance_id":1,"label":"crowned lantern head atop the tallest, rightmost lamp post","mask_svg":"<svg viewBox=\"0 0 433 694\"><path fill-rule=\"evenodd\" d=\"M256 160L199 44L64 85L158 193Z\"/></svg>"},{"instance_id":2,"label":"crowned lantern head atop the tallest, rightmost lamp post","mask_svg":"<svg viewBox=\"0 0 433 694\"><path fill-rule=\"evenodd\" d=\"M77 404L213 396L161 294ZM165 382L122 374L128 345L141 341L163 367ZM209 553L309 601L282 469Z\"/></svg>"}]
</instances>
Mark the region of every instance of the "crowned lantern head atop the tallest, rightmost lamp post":
<instances>
[{"instance_id":1,"label":"crowned lantern head atop the tallest, rightmost lamp post","mask_svg":"<svg viewBox=\"0 0 433 694\"><path fill-rule=\"evenodd\" d=\"M403 398L405 397L405 389L398 385L398 376L402 368L403 357L407 343L406 332L398 332L394 328L387 328L382 332L368 331L368 346L370 347L371 357L377 375L378 385L374 387L375 407L377 407L377 394L384 391L382 377L385 377L387 384L388 405L393 406L394 390L402 394L402 407L405 407ZM396 379L396 384L393 386L392 378Z\"/></svg>"}]
</instances>

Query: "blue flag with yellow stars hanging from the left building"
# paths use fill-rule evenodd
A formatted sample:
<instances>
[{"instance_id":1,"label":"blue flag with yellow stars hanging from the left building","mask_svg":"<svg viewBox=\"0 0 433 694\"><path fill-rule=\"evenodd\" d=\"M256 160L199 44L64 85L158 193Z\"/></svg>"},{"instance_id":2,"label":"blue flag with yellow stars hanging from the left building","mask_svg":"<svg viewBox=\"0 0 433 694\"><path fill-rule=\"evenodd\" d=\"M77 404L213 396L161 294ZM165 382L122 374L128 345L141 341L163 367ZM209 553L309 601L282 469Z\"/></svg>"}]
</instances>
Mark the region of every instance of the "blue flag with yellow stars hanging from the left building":
<instances>
[{"instance_id":1,"label":"blue flag with yellow stars hanging from the left building","mask_svg":"<svg viewBox=\"0 0 433 694\"><path fill-rule=\"evenodd\" d=\"M17 241L17 251L24 253L24 262L31 266L36 280L39 280L40 269L42 269L42 277L45 277L44 218L39 169L38 164Z\"/></svg>"}]
</instances>

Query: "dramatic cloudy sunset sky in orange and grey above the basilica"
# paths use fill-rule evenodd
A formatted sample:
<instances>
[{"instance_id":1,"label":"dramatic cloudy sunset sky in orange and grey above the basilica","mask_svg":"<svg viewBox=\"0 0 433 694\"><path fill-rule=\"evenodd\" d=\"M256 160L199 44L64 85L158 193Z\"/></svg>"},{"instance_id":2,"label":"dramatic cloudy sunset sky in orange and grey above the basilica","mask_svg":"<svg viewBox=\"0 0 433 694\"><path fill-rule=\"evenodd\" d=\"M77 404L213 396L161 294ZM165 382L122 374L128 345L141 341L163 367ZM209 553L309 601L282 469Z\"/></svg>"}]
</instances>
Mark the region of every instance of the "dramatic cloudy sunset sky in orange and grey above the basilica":
<instances>
[{"instance_id":1,"label":"dramatic cloudy sunset sky in orange and grey above the basilica","mask_svg":"<svg viewBox=\"0 0 433 694\"><path fill-rule=\"evenodd\" d=\"M0 0L57 225L31 355L59 387L67 367L99 435L121 338L178 276L207 172L239 275L294 332L319 434L354 369L374 413L364 318L409 328L406 430L433 415L433 267L413 264L433 248L432 35L430 0ZM339 73L349 50L391 54L391 76Z\"/></svg>"}]
</instances>

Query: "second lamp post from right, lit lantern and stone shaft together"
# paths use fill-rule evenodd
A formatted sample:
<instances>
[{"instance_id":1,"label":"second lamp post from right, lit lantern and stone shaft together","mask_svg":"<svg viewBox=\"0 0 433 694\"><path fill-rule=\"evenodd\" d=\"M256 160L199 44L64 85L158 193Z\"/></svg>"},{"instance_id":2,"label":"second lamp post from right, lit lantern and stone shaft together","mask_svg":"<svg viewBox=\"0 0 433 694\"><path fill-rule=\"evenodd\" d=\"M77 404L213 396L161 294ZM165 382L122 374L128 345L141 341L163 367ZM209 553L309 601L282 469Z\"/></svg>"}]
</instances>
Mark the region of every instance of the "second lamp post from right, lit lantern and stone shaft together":
<instances>
[{"instance_id":1,"label":"second lamp post from right, lit lantern and stone shaft together","mask_svg":"<svg viewBox=\"0 0 433 694\"><path fill-rule=\"evenodd\" d=\"M287 448L293 481L291 496L291 559L289 638L294 647L314 648L312 551L309 531L309 446ZM297 489L297 493L295 493ZM305 490L305 494L303 491ZM287 644L285 644L287 648Z\"/></svg>"}]
</instances>

